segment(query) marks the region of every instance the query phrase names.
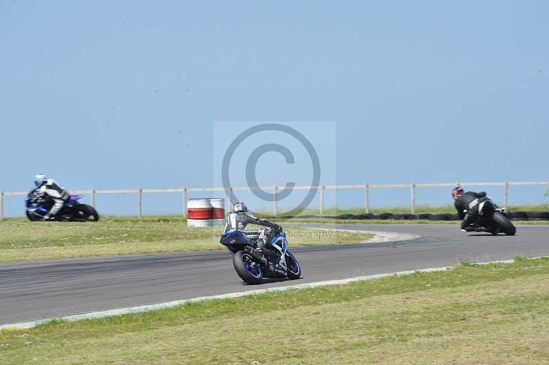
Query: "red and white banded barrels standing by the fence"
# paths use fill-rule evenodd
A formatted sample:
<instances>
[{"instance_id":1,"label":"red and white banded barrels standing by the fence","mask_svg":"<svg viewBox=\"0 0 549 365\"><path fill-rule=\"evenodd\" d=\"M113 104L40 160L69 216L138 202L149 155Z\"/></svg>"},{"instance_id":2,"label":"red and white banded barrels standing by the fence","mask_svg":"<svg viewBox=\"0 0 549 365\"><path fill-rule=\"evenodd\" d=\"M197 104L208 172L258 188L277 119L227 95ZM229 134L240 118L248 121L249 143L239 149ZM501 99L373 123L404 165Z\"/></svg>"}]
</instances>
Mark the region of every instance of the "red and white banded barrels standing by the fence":
<instances>
[{"instance_id":1,"label":"red and white banded barrels standing by the fence","mask_svg":"<svg viewBox=\"0 0 549 365\"><path fill-rule=\"evenodd\" d=\"M187 200L187 226L222 226L225 222L225 200L222 198L198 198Z\"/></svg>"}]
</instances>

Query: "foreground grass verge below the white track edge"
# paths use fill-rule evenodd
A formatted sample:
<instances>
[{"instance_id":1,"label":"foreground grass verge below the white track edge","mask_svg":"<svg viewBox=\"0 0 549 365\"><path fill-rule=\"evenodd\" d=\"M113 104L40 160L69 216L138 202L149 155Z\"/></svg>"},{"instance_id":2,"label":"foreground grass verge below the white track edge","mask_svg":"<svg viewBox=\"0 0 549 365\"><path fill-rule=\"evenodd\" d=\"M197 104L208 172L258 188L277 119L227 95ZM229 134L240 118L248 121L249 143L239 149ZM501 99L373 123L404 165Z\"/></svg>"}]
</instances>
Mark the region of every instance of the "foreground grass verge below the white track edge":
<instances>
[{"instance_id":1,"label":"foreground grass verge below the white track edge","mask_svg":"<svg viewBox=\"0 0 549 365\"><path fill-rule=\"evenodd\" d=\"M549 259L0 332L2 364L547 364Z\"/></svg>"}]
</instances>

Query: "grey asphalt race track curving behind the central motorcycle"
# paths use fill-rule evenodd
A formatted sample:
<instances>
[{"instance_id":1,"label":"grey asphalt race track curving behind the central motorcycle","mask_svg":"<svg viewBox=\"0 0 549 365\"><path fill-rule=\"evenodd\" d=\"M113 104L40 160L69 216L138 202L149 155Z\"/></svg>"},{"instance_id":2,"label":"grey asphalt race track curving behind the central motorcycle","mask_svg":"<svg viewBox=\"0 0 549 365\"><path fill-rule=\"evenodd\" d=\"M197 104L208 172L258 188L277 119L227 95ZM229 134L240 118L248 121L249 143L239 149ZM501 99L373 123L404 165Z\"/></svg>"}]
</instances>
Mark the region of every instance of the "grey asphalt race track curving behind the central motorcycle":
<instances>
[{"instance_id":1,"label":"grey asphalt race track curving behind the central motorcycle","mask_svg":"<svg viewBox=\"0 0 549 365\"><path fill-rule=\"evenodd\" d=\"M513 237L466 235L454 225L322 227L421 237L381 244L294 248L292 252L302 266L302 279L262 285L242 283L227 251L2 263L0 325L266 287L451 266L462 259L482 262L517 255L549 255L549 226L519 226Z\"/></svg>"}]
</instances>

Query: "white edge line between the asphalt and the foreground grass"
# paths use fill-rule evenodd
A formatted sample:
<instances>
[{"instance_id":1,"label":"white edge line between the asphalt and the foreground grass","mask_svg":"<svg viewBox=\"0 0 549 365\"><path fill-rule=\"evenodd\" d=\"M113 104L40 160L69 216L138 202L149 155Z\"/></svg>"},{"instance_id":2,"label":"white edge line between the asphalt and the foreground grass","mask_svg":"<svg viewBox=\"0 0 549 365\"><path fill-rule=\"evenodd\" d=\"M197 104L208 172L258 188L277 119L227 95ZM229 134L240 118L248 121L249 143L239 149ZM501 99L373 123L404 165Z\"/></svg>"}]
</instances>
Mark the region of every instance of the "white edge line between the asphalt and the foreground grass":
<instances>
[{"instance_id":1,"label":"white edge line between the asphalt and the foreground grass","mask_svg":"<svg viewBox=\"0 0 549 365\"><path fill-rule=\"evenodd\" d=\"M528 257L527 259L533 260L533 259L541 259L541 258L548 258L548 257L549 256ZM471 263L471 265L489 265L490 263L513 263L513 262L515 262L514 259L488 261L488 262L478 262L478 263ZM307 289L309 287L319 287L319 286L326 286L326 285L343 285L343 284L347 284L347 283L352 283L354 281L366 281L366 280L383 279L383 278L386 278L388 276L406 276L406 275L410 275L410 274L415 274L417 272L445 271L445 270L451 270L452 268L454 268L454 266L444 266L442 268L427 268L427 269L421 269L421 270L406 270L406 271L392 272L392 273L389 273L389 274L374 274L374 275L367 275L367 276L355 276L355 277L348 278L348 279L317 281L315 283L288 285L288 286L283 286L283 287L270 287L268 289L249 290L247 292L235 292L235 293L220 294L220 295L214 295L214 296L200 296L198 298L183 299L183 300L180 300L180 301L170 301L170 302L156 303L156 304L150 304L150 305L138 305L136 307L107 309L107 310L104 310L104 311L92 311L92 312L83 313L83 314L73 314L71 316L44 318L44 319L32 320L32 321L28 321L28 322L19 322L19 323L12 323L12 324L8 324L8 325L0 325L0 331L2 331L2 330L15 331L15 330L19 330L19 329L30 329L30 328L36 327L38 325L43 325L44 323L47 323L47 322L51 322L52 320L63 320L63 321L67 321L67 322L75 322L77 320L87 320L87 319L104 318L104 317L110 317L110 316L121 316L122 314L134 314L134 313L142 313L142 312L145 312L145 311L154 311L154 310L158 310L158 309L177 307L178 305L184 305L186 303L193 303L193 302L199 302L199 301L211 301L211 300L215 300L215 299L240 298L242 296L264 294L264 293L269 293L269 292L283 292L285 290L292 290L292 289L296 289L296 290Z\"/></svg>"}]
</instances>

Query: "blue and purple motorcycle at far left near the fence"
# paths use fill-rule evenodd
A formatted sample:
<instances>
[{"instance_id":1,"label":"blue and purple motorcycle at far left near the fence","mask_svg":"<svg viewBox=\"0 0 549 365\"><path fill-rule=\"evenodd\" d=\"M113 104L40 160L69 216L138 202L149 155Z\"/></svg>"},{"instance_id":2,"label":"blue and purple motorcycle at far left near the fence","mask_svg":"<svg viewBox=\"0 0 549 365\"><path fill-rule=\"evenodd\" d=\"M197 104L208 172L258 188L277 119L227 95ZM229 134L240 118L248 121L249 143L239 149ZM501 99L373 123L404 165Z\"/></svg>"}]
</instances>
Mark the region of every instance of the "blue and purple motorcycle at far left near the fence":
<instances>
[{"instance_id":1,"label":"blue and purple motorcycle at far left near the fence","mask_svg":"<svg viewBox=\"0 0 549 365\"><path fill-rule=\"evenodd\" d=\"M71 195L65 205L57 213L54 220L64 222L97 222L99 214L95 208L88 204L82 204L78 200L80 195ZM43 220L44 215L53 207L54 201L49 197L40 198L35 191L28 193L25 199L26 215L30 221Z\"/></svg>"}]
</instances>

